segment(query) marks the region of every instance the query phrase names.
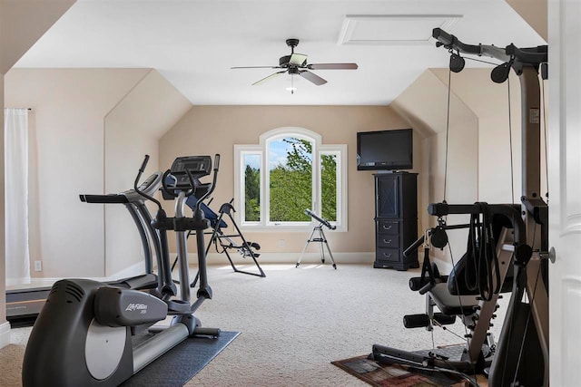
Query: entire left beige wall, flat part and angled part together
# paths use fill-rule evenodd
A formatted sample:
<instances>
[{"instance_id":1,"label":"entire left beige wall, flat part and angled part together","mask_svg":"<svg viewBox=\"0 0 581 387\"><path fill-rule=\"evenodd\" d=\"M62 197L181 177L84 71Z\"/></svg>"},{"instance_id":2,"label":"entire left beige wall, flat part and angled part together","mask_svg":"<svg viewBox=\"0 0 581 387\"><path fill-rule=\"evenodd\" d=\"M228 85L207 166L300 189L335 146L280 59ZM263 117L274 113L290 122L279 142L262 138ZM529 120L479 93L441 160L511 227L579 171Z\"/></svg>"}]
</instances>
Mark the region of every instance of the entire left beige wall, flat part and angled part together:
<instances>
[{"instance_id":1,"label":"entire left beige wall, flat part and angled part together","mask_svg":"<svg viewBox=\"0 0 581 387\"><path fill-rule=\"evenodd\" d=\"M43 272L32 276L132 275L143 249L126 209L78 195L132 189L145 154L145 174L157 170L162 133L191 103L150 69L13 69L5 95L33 108L30 259Z\"/></svg>"}]
</instances>

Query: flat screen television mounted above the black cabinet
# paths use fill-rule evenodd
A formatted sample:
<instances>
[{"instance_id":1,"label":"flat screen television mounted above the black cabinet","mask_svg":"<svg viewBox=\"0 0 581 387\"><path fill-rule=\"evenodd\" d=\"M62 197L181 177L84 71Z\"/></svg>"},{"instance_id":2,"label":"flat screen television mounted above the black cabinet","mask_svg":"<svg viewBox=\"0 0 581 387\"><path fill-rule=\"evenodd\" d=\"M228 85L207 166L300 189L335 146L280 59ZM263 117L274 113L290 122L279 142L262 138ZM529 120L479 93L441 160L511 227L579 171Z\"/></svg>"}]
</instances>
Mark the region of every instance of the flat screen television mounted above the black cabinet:
<instances>
[{"instance_id":1,"label":"flat screen television mounted above the black cabinet","mask_svg":"<svg viewBox=\"0 0 581 387\"><path fill-rule=\"evenodd\" d=\"M357 133L358 170L413 168L413 131L360 131Z\"/></svg>"}]
</instances>

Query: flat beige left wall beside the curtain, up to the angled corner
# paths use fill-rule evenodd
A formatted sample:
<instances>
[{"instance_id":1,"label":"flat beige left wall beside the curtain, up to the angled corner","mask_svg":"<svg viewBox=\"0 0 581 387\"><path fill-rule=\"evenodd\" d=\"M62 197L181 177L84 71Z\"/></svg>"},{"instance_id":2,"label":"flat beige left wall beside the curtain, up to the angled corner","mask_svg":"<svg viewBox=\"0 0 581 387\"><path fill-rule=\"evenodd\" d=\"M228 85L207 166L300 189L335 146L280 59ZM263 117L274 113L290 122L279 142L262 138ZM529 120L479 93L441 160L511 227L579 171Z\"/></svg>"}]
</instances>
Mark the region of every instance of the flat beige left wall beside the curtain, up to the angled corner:
<instances>
[{"instance_id":1,"label":"flat beige left wall beside the curtain, up to the angled corner","mask_svg":"<svg viewBox=\"0 0 581 387\"><path fill-rule=\"evenodd\" d=\"M5 75L5 105L33 108L31 261L43 261L43 272L33 276L104 276L103 206L84 204L78 195L103 193L103 117L145 73L13 69Z\"/></svg>"}]
</instances>

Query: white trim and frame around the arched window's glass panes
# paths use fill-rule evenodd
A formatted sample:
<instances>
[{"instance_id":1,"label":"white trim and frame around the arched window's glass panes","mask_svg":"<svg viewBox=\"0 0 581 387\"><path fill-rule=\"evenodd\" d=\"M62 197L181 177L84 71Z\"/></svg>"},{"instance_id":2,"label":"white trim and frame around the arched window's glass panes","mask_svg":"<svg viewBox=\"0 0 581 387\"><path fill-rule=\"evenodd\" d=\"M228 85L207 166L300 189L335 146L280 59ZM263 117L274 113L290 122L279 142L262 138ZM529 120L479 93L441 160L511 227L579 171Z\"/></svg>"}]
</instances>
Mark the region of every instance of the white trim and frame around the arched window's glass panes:
<instances>
[{"instance_id":1,"label":"white trim and frame around the arched window's glass panes","mask_svg":"<svg viewBox=\"0 0 581 387\"><path fill-rule=\"evenodd\" d=\"M337 226L337 231L346 232L348 230L348 214L347 214L347 191L348 191L348 181L347 181L347 144L323 144L322 137L319 133L315 131L309 131L304 128L299 127L281 127L273 129L271 131L265 131L261 134L259 138L259 144L249 144L249 145L234 145L234 206L239 208L238 211L234 213L234 217L238 225L246 230L252 231L297 231L304 232L306 229L310 229L316 226L318 223L314 220L310 222L284 222L277 223L271 222L270 220L270 203L269 193L265 189L269 184L269 174L268 171L268 145L272 140L281 140L283 138L295 137L300 139L312 140L313 150L312 150L312 160L313 160L313 173L312 173L312 187L315 189L315 195L313 195L314 202L312 203L312 208L316 213L320 213L320 202L321 202L321 187L320 187L320 156L323 154L336 154L338 156L337 160L337 221L331 222ZM242 157L245 154L258 154L261 157L261 220L259 222L247 222L242 221L242 215L245 214L245 192L244 192L244 179L242 175L244 171L244 163L242 162ZM268 219L268 221L267 221Z\"/></svg>"}]
</instances>

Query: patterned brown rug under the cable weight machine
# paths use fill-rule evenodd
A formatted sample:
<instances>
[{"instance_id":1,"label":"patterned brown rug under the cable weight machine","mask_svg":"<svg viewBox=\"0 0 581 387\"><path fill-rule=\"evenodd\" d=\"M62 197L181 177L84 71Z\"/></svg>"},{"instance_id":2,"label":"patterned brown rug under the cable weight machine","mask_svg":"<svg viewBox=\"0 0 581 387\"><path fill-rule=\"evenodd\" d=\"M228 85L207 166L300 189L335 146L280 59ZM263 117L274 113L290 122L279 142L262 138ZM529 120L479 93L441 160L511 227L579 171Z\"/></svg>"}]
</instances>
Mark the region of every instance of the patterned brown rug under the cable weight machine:
<instances>
[{"instance_id":1,"label":"patterned brown rug under the cable weight machine","mask_svg":"<svg viewBox=\"0 0 581 387\"><path fill-rule=\"evenodd\" d=\"M428 387L428 386L468 386L459 377L448 376L441 372L424 372L397 364L381 364L369 360L367 355L331 362L341 370L349 372L363 382L377 387ZM478 384L487 386L486 380Z\"/></svg>"}]
</instances>

